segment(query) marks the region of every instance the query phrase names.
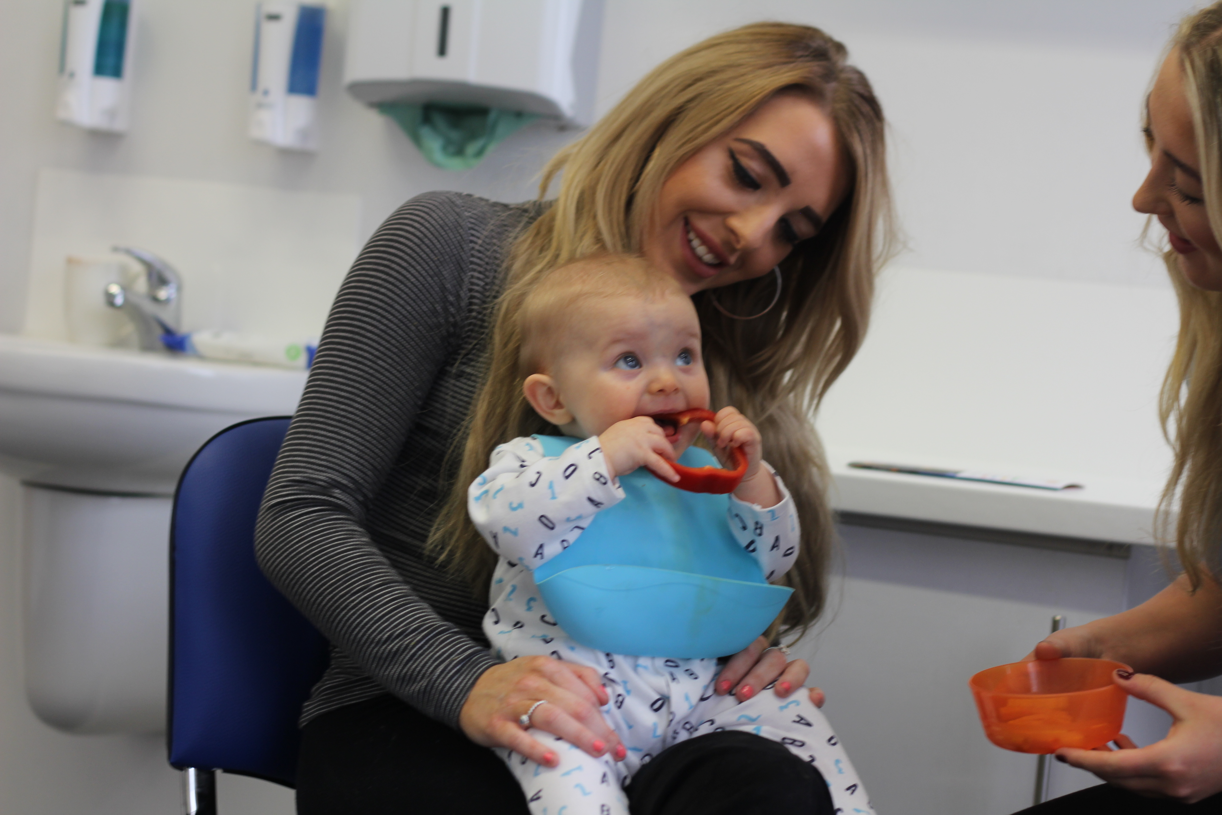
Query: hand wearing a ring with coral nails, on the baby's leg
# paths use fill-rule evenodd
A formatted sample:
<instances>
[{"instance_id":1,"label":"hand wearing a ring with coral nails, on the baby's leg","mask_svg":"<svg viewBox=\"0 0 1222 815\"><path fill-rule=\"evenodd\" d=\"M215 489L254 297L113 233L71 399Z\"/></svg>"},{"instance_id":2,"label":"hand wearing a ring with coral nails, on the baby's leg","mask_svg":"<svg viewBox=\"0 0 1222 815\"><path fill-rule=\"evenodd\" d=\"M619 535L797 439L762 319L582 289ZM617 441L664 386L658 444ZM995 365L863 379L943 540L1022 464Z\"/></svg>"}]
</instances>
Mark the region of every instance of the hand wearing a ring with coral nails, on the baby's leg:
<instances>
[{"instance_id":1,"label":"hand wearing a ring with coral nails, on the baby's leg","mask_svg":"<svg viewBox=\"0 0 1222 815\"><path fill-rule=\"evenodd\" d=\"M518 716L546 700L530 716L532 726L576 744L593 756L610 753L616 761L628 754L599 707L610 696L594 668L550 656L519 656L494 665L475 681L458 715L467 738L484 747L505 747L549 767L558 759L554 748L530 737Z\"/></svg>"}]
</instances>

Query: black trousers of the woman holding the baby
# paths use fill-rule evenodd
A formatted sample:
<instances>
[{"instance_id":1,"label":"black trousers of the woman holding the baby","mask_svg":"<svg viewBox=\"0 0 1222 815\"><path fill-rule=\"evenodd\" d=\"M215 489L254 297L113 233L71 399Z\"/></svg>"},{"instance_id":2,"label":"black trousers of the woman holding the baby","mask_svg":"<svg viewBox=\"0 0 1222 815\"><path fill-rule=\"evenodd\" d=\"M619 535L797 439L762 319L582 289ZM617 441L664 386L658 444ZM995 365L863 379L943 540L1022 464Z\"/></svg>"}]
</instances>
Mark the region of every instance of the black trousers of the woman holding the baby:
<instances>
[{"instance_id":1,"label":"black trousers of the woman holding the baby","mask_svg":"<svg viewBox=\"0 0 1222 815\"><path fill-rule=\"evenodd\" d=\"M699 736L643 766L633 815L832 815L822 776L781 744L743 732ZM299 815L528 815L491 750L391 695L312 720L297 765Z\"/></svg>"}]
</instances>

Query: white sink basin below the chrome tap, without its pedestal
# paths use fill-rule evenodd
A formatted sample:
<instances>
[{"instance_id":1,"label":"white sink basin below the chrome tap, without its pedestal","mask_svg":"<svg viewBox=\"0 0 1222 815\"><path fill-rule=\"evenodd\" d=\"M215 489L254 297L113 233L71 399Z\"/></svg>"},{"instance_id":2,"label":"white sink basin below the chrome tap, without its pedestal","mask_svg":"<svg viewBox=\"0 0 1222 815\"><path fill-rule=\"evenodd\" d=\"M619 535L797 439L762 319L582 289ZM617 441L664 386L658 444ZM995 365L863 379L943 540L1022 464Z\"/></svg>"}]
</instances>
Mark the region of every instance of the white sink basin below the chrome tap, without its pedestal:
<instances>
[{"instance_id":1,"label":"white sink basin below the chrome tap, without its pedestal","mask_svg":"<svg viewBox=\"0 0 1222 815\"><path fill-rule=\"evenodd\" d=\"M286 415L306 371L0 335L0 472L24 481L171 495L214 433Z\"/></svg>"}]
</instances>

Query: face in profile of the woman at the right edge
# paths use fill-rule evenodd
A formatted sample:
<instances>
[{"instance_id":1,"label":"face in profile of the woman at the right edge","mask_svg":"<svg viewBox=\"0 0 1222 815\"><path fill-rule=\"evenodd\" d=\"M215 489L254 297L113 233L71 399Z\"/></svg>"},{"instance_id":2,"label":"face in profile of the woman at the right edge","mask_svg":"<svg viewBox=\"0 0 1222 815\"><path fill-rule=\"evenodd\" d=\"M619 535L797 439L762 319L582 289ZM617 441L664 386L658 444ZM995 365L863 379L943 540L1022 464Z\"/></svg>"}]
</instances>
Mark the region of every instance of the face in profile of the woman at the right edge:
<instances>
[{"instance_id":1,"label":"face in profile of the woman at the right edge","mask_svg":"<svg viewBox=\"0 0 1222 815\"><path fill-rule=\"evenodd\" d=\"M1193 111L1178 51L1172 51L1158 70L1146 108L1150 172L1133 196L1133 208L1154 215L1167 230L1188 282L1222 291L1222 248L1205 211Z\"/></svg>"}]
</instances>

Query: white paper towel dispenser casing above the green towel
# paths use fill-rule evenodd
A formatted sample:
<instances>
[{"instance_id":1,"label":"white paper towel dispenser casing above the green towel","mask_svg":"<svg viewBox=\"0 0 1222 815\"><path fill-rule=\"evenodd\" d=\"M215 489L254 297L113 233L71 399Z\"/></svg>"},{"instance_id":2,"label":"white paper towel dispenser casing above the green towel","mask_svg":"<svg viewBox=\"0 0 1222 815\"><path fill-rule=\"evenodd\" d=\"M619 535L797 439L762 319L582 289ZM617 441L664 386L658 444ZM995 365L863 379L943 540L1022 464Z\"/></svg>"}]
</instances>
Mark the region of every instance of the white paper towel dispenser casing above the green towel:
<instances>
[{"instance_id":1,"label":"white paper towel dispenser casing above the green towel","mask_svg":"<svg viewBox=\"0 0 1222 815\"><path fill-rule=\"evenodd\" d=\"M356 0L345 86L369 105L445 103L587 126L602 0Z\"/></svg>"}]
</instances>

